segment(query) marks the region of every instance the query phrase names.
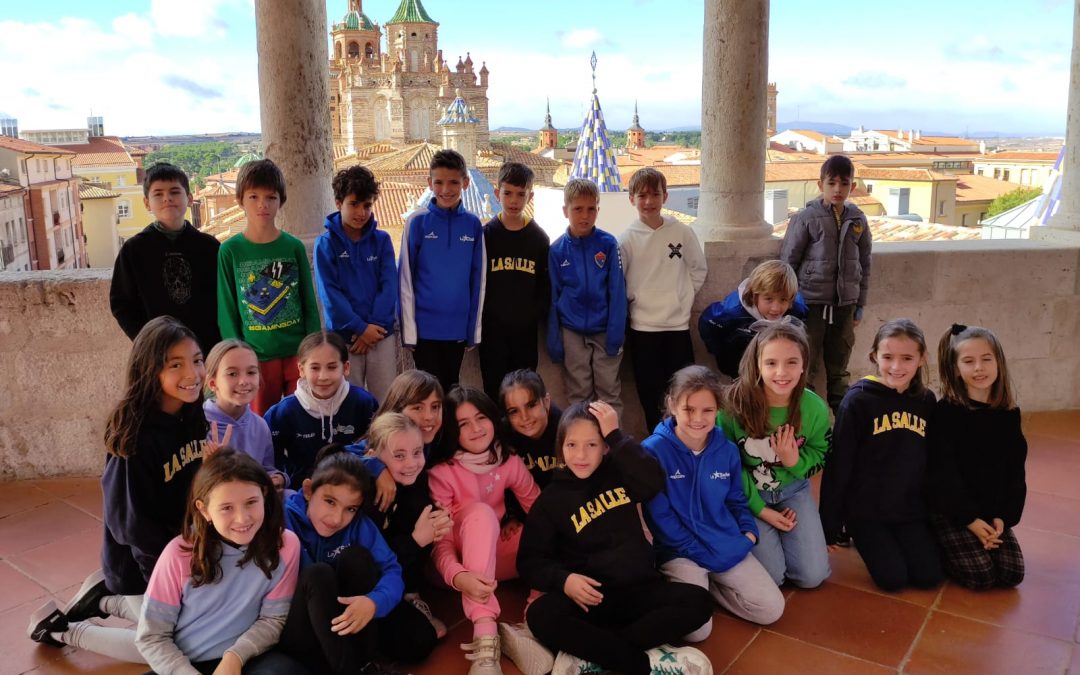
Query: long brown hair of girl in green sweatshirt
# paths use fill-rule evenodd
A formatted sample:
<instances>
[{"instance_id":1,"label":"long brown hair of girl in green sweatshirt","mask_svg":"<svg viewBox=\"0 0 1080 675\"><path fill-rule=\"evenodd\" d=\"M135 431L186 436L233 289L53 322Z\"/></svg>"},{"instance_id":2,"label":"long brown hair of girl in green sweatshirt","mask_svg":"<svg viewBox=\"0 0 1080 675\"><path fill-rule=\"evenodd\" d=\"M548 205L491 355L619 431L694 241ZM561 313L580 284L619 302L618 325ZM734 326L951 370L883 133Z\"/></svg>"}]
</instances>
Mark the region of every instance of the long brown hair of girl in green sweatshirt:
<instances>
[{"instance_id":1,"label":"long brown hair of girl in green sweatshirt","mask_svg":"<svg viewBox=\"0 0 1080 675\"><path fill-rule=\"evenodd\" d=\"M743 352L742 361L739 362L739 378L728 388L724 406L752 438L764 438L772 433L769 428L769 405L765 397L765 383L761 381L760 357L761 350L773 340L794 342L802 354L802 373L787 402L787 423L796 433L802 426L800 406L810 362L807 334L802 326L794 321L771 322L754 336Z\"/></svg>"}]
</instances>

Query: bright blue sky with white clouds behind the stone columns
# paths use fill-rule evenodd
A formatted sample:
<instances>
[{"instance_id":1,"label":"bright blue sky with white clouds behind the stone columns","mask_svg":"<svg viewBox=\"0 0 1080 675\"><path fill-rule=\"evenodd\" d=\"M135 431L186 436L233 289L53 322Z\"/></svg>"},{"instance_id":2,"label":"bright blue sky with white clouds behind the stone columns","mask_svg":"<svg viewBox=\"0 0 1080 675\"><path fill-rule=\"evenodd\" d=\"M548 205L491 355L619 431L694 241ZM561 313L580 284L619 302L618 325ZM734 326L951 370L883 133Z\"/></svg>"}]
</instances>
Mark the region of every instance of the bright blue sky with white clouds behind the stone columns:
<instances>
[{"instance_id":1,"label":"bright blue sky with white clouds behind the stone columns","mask_svg":"<svg viewBox=\"0 0 1080 675\"><path fill-rule=\"evenodd\" d=\"M0 113L22 129L78 127L91 110L120 135L257 131L254 0L38 0L0 12ZM327 0L329 21L346 0ZM397 0L365 0L386 22ZM491 71L490 123L537 127L551 97L559 127L580 125L597 87L609 126L634 100L646 129L697 125L700 1L540 3L424 0L453 66L471 52ZM1062 133L1068 0L774 0L769 78L781 122L945 132ZM1023 9L1017 9L1022 6ZM462 11L467 8L467 11Z\"/></svg>"}]
</instances>

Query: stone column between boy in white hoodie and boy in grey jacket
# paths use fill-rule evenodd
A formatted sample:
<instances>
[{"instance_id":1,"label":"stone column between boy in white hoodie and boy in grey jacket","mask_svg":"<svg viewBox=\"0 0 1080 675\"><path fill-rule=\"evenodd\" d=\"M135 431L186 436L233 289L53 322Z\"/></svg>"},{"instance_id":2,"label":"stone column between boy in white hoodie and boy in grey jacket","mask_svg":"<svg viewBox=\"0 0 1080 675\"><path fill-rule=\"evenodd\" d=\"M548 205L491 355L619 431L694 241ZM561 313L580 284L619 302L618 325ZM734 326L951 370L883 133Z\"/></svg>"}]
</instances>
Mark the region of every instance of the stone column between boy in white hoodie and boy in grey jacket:
<instances>
[{"instance_id":1,"label":"stone column between boy in white hoodie and boy in grey jacket","mask_svg":"<svg viewBox=\"0 0 1080 675\"><path fill-rule=\"evenodd\" d=\"M703 242L764 239L769 0L705 0L701 82Z\"/></svg>"}]
</instances>

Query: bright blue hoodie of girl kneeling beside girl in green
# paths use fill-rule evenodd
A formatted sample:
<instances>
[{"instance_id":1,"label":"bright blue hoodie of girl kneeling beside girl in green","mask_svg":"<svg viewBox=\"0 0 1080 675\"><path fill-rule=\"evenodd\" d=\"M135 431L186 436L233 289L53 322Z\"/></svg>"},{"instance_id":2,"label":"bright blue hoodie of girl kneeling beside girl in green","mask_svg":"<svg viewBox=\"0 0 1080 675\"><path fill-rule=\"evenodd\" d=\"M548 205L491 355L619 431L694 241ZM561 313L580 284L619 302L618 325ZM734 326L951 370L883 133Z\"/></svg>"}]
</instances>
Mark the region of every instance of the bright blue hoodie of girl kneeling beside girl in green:
<instances>
[{"instance_id":1,"label":"bright blue hoodie of girl kneeling beside girl in green","mask_svg":"<svg viewBox=\"0 0 1080 675\"><path fill-rule=\"evenodd\" d=\"M731 569L750 553L745 532L758 536L742 488L739 448L719 429L694 455L675 435L675 419L657 424L642 443L660 462L667 486L645 504L661 563L685 557L711 572Z\"/></svg>"}]
</instances>

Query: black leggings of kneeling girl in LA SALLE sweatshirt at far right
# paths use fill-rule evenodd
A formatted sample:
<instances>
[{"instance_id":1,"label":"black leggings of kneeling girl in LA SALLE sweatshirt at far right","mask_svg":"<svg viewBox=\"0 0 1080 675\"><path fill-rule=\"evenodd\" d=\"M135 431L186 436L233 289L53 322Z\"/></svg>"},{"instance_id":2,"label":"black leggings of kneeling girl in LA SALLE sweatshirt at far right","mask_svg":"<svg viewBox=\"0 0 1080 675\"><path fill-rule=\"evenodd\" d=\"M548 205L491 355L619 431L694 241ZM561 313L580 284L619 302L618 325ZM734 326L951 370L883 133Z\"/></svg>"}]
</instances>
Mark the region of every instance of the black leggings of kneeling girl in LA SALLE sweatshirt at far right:
<instances>
[{"instance_id":1,"label":"black leggings of kneeling girl in LA SALLE sweatshirt at far right","mask_svg":"<svg viewBox=\"0 0 1080 675\"><path fill-rule=\"evenodd\" d=\"M937 542L924 521L856 521L848 523L848 534L874 583L882 591L900 591L907 585L932 589L945 578Z\"/></svg>"}]
</instances>

